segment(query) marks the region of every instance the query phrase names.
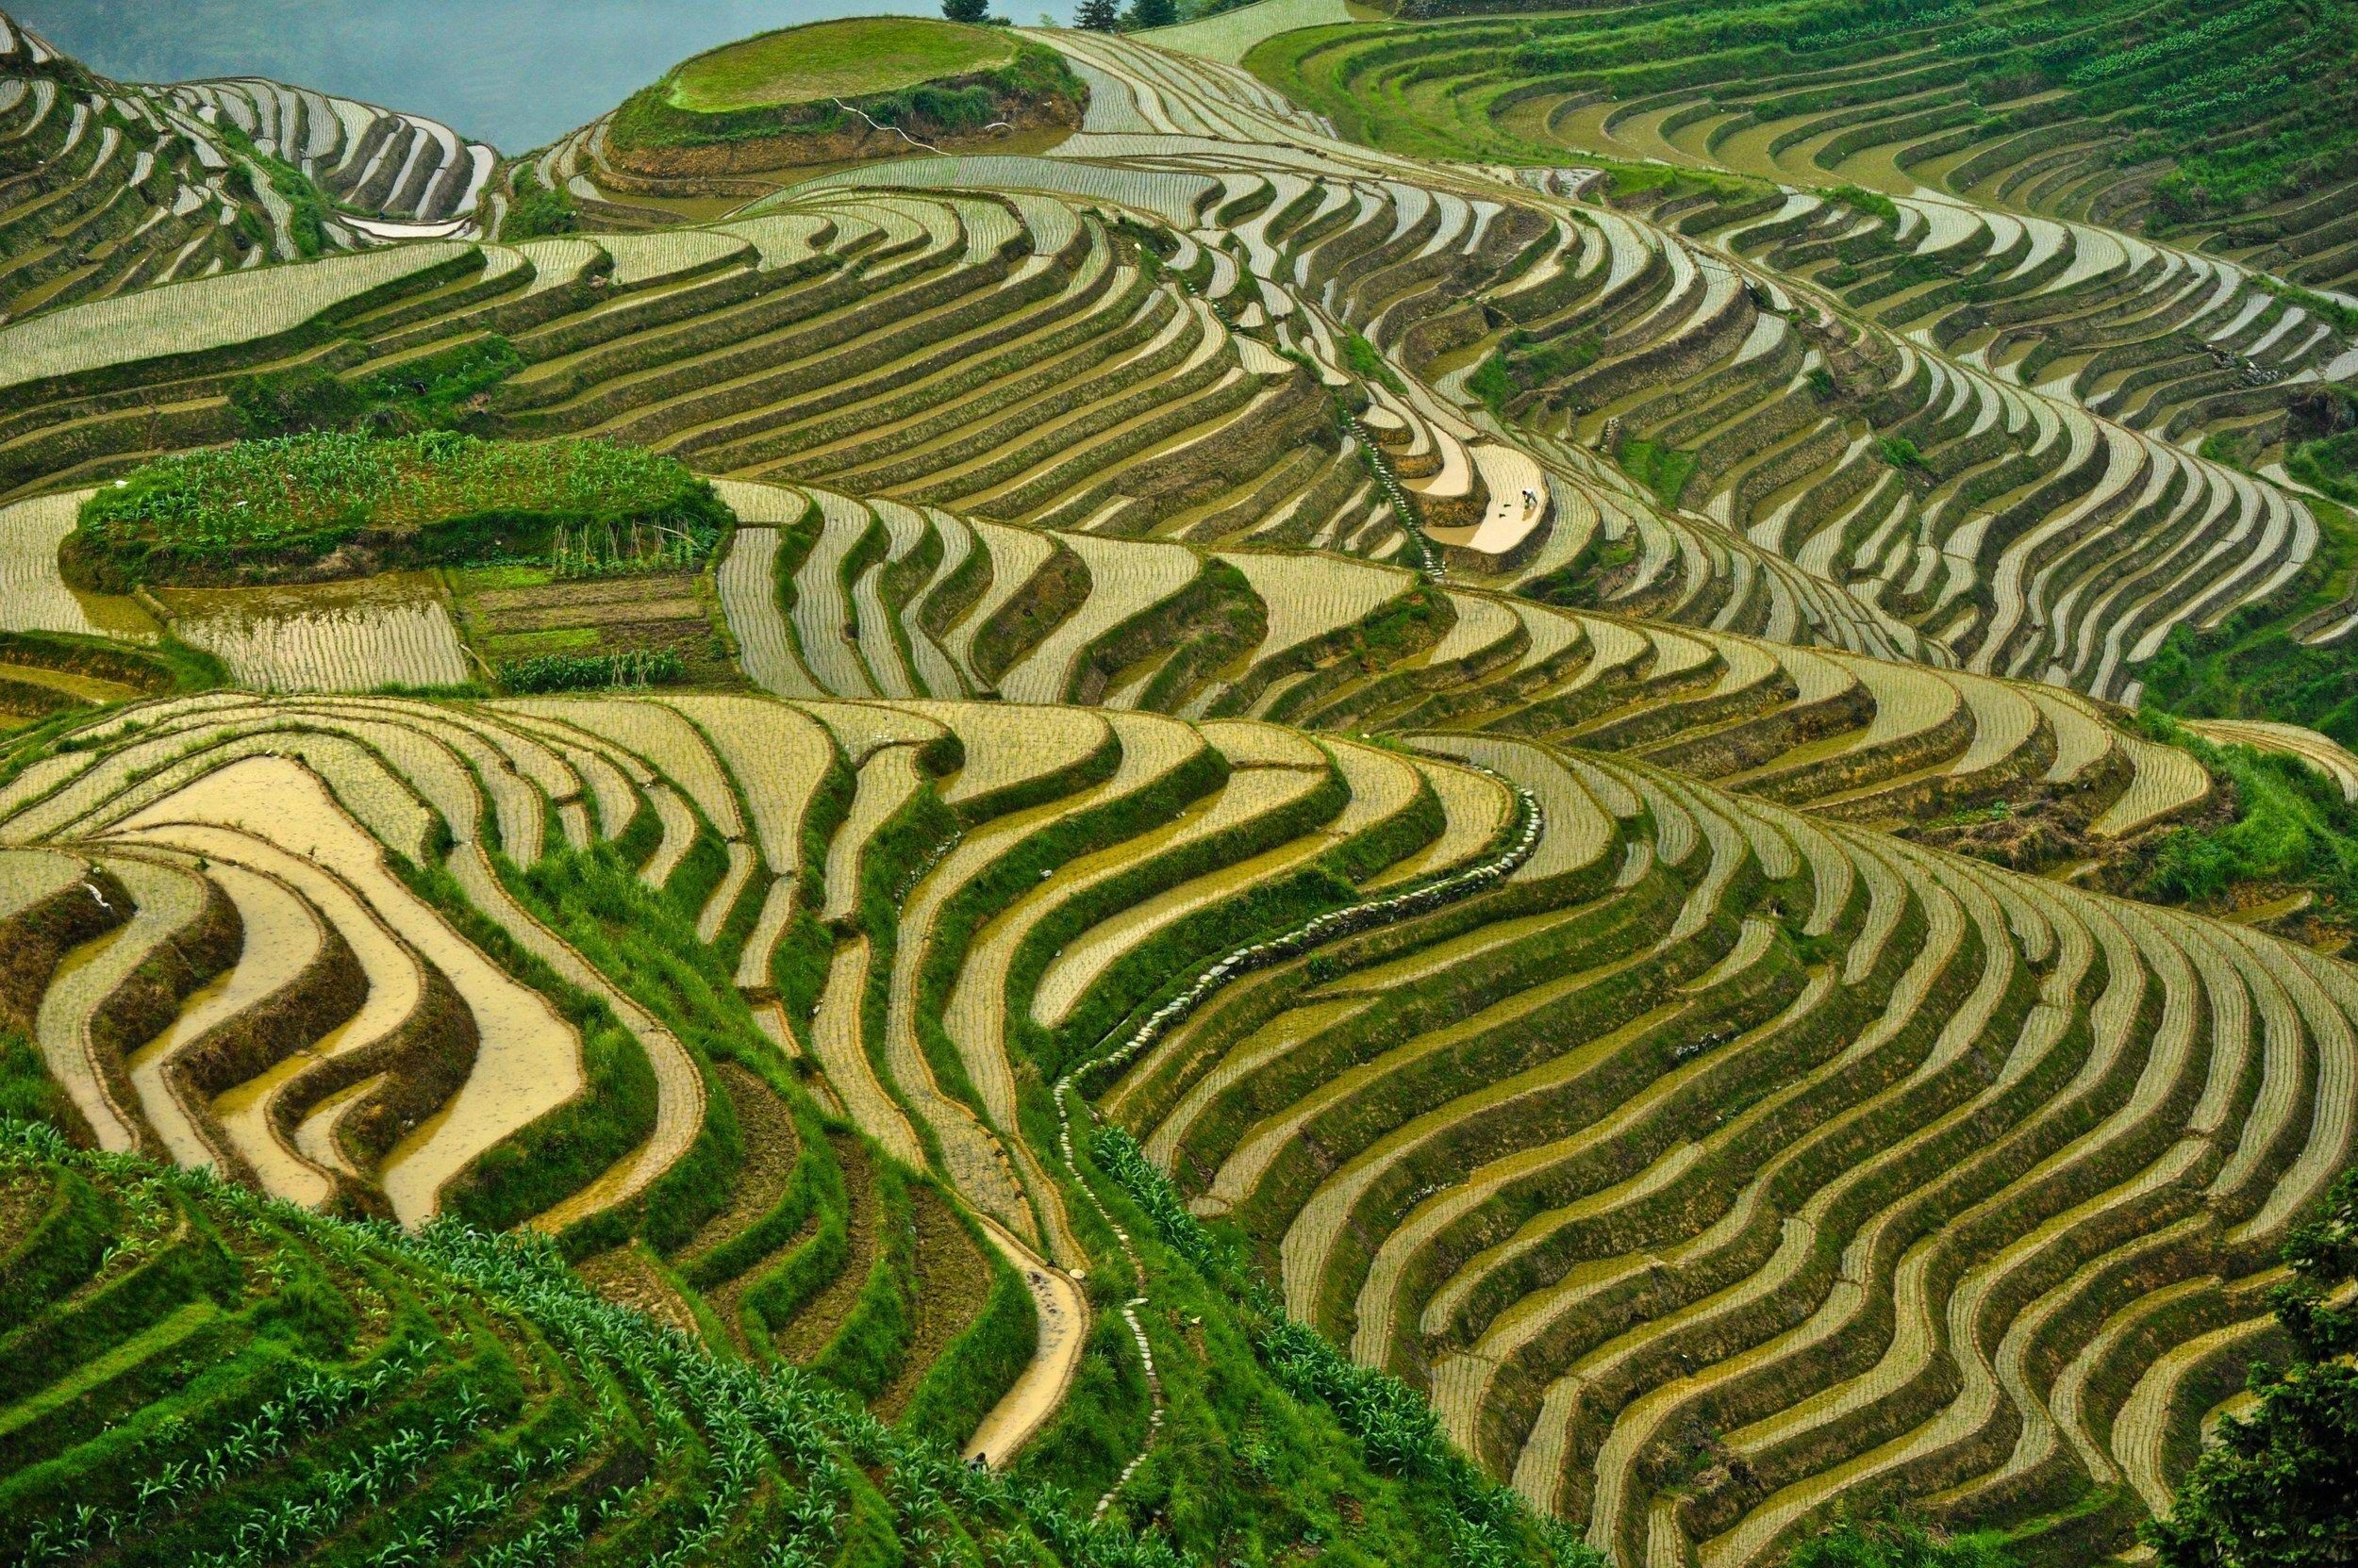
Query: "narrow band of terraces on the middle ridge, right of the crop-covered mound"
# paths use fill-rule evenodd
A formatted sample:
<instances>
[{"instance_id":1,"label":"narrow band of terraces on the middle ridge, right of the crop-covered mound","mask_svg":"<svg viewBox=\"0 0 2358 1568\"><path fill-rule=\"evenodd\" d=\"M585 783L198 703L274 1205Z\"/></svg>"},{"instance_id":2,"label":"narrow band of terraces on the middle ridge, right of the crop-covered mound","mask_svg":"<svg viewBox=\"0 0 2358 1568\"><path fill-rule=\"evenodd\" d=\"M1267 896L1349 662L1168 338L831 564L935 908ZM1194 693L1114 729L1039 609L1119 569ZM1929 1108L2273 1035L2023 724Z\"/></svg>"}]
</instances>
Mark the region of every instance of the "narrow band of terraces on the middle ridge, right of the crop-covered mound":
<instances>
[{"instance_id":1,"label":"narrow band of terraces on the middle ridge, right of the crop-covered mound","mask_svg":"<svg viewBox=\"0 0 2358 1568\"><path fill-rule=\"evenodd\" d=\"M1280 717L1351 733L1445 722L1629 752L1747 795L1877 825L1934 809L1995 799L2028 809L2044 799L2080 832L2117 839L2209 797L2207 776L2184 752L2125 731L2082 698L1962 670L1559 611L1474 589L1443 597L1445 625L1405 622L1415 630L1391 641L1391 627L1415 604L1415 578L1313 552L1191 552L1153 540L981 526L995 559L993 582L967 601L962 620L929 622L936 582L946 587L957 571L941 545L946 568L901 599L898 637L880 634L870 615L858 644L830 639L839 611L804 615L804 606L839 599L828 597L839 578L832 561L847 559L872 528L870 512L816 488L731 493L757 514L802 516L806 507L823 519L795 578L795 604L799 646L818 644L825 655L809 670L795 665L771 686L780 696L870 696L875 681L856 648L905 641L941 648L941 665L910 677L924 696L957 698L995 684L1009 700L1052 700L1073 691L1080 667L1094 667L1115 707L1191 719ZM960 523L936 512L929 526L938 542ZM773 552L766 535L747 528L738 549L757 540L755 552ZM915 559L931 552L922 540L910 545ZM1078 589L1054 566L1059 552L1082 561ZM1238 573L1243 592L1229 604L1240 604L1245 625L1259 627L1224 663L1196 658L1193 618L1158 615L1212 564ZM729 573L724 561L724 580ZM762 575L766 568L745 580ZM995 672L976 644L988 651L993 627L1016 622L1030 651ZM776 601L752 589L733 601L731 627L747 651L783 641ZM1344 658L1377 639L1382 658ZM747 672L771 667L757 660L773 658L747 653Z\"/></svg>"}]
</instances>

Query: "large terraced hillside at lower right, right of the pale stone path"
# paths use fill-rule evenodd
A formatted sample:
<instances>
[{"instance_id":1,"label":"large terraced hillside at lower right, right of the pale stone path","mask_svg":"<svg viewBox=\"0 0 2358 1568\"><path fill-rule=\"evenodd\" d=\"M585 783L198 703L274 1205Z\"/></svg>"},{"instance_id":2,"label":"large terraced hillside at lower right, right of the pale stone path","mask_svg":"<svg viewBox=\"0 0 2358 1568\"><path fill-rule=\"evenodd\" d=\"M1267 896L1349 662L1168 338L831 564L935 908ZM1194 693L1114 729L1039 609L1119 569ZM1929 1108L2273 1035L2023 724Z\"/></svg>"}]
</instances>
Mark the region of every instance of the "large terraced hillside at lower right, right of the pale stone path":
<instances>
[{"instance_id":1,"label":"large terraced hillside at lower right, right of the pale stone path","mask_svg":"<svg viewBox=\"0 0 2358 1568\"><path fill-rule=\"evenodd\" d=\"M2250 1304L2349 1158L2346 1115L2292 1113L2349 1070L2332 960L1625 759L1431 743L1568 854L1486 922L1210 1002L1104 1108L1620 1561L1757 1561L1877 1476L1948 1518L2101 1483L2139 1377L2044 1325L2160 1320L2132 1259ZM1665 1483L1688 1429L1724 1436Z\"/></svg>"}]
</instances>

